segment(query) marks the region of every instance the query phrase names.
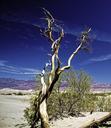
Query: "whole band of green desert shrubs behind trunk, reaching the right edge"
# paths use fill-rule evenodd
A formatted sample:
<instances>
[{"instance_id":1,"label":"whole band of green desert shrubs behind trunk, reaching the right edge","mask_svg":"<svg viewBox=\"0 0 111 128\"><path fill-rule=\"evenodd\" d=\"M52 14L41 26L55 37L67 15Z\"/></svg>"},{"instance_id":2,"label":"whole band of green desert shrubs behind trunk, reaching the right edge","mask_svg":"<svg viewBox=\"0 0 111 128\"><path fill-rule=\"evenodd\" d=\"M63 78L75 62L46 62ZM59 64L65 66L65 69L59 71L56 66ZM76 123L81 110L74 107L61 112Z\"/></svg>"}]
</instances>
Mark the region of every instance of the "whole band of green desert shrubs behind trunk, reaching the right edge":
<instances>
[{"instance_id":1,"label":"whole band of green desert shrubs behind trunk, reaching the right edge","mask_svg":"<svg viewBox=\"0 0 111 128\"><path fill-rule=\"evenodd\" d=\"M61 84L63 80L67 83L65 86ZM47 101L50 122L64 118L73 120L73 118L85 117L87 113L90 115L95 112L111 112L111 94L109 92L93 93L90 90L91 78L85 72L63 73ZM30 99L30 107L25 109L25 117L29 125L31 125L36 112L38 96L39 93L35 93ZM36 127L39 125L40 122L37 122Z\"/></svg>"}]
</instances>

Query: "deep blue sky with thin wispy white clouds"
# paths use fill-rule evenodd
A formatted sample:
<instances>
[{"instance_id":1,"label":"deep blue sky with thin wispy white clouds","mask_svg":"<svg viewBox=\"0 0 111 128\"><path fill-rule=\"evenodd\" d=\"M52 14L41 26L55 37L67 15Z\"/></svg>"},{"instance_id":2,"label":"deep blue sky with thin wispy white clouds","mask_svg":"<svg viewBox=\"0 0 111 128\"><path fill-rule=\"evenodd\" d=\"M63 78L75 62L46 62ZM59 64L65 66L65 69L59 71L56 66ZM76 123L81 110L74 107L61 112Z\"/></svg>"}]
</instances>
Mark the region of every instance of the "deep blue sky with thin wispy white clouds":
<instances>
[{"instance_id":1,"label":"deep blue sky with thin wispy white clouds","mask_svg":"<svg viewBox=\"0 0 111 128\"><path fill-rule=\"evenodd\" d=\"M62 64L77 47L77 35L91 27L92 52L81 51L72 62L94 81L111 83L111 0L1 0L0 77L32 78L49 60L50 43L36 25L44 26L41 7L65 30Z\"/></svg>"}]
</instances>

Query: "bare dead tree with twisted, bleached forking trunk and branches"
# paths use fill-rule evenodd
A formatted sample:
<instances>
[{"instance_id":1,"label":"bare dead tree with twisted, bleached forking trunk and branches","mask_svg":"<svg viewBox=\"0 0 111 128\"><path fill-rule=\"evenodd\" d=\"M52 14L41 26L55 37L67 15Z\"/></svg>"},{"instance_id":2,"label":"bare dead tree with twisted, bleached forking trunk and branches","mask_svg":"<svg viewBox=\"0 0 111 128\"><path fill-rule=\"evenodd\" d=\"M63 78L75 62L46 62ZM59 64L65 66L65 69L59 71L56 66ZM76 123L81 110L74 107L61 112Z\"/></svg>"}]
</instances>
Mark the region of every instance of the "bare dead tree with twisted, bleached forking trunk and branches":
<instances>
[{"instance_id":1,"label":"bare dead tree with twisted, bleached forking trunk and branches","mask_svg":"<svg viewBox=\"0 0 111 128\"><path fill-rule=\"evenodd\" d=\"M52 54L51 54L50 63L46 63L41 73L42 90L39 93L37 108L31 124L31 128L35 128L36 122L39 120L41 121L41 128L50 128L48 113L47 113L47 99L49 98L55 83L58 81L60 74L64 70L67 70L71 67L72 59L81 49L87 48L88 46L87 44L89 42L89 32L91 31L91 28L89 28L88 30L81 33L78 47L69 56L67 65L62 67L58 53L62 39L64 37L64 30L62 27L60 27L55 23L55 19L53 18L53 16L50 14L49 11L47 11L44 8L43 11L46 16L44 19L47 23L47 28L45 28L44 30L40 29L40 31L45 37L49 39L51 43ZM60 32L57 39L54 39L54 35L53 35L54 27L56 27L56 29L58 29ZM48 84L46 84L44 75L45 75L45 70L48 66L51 67L51 70L48 75Z\"/></svg>"}]
</instances>

